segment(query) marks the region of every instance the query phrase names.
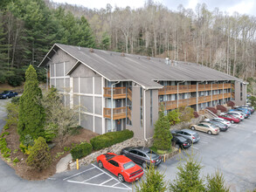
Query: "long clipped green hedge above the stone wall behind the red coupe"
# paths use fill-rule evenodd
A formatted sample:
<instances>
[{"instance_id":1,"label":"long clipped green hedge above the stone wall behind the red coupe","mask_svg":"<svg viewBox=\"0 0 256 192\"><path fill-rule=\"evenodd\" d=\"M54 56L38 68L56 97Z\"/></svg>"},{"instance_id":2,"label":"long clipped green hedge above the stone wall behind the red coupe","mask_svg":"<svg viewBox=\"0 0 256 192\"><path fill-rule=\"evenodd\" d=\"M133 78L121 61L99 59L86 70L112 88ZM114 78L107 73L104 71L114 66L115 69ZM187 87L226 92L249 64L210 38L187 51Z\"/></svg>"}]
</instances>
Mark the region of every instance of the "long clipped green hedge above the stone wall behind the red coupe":
<instances>
[{"instance_id":1,"label":"long clipped green hedge above the stone wall behind the red coupe","mask_svg":"<svg viewBox=\"0 0 256 192\"><path fill-rule=\"evenodd\" d=\"M134 132L128 129L118 132L109 132L101 134L90 140L93 149L100 150L101 148L113 146L116 143L126 141L134 136Z\"/></svg>"}]
</instances>

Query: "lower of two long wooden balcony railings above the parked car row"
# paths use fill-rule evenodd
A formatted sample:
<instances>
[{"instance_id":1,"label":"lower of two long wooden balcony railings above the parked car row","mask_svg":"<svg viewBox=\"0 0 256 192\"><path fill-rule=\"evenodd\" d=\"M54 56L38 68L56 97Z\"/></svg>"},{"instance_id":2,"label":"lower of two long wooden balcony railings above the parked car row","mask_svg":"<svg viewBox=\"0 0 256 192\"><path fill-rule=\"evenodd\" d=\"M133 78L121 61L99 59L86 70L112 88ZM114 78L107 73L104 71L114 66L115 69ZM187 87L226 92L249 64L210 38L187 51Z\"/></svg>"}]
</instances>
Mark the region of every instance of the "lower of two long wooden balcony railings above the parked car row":
<instances>
[{"instance_id":1,"label":"lower of two long wooden balcony railings above the parked car row","mask_svg":"<svg viewBox=\"0 0 256 192\"><path fill-rule=\"evenodd\" d=\"M224 94L216 94L212 95L212 100L218 100L218 99L225 99L225 98L231 98L231 93L224 93ZM163 101L159 103L159 107L161 107L161 104L163 103L163 106L165 106L166 110L175 109L178 106L192 106L200 103L205 102L211 102L211 95L198 97L197 98L190 98L190 99L179 99L178 104L177 100L170 100L170 101Z\"/></svg>"}]
</instances>

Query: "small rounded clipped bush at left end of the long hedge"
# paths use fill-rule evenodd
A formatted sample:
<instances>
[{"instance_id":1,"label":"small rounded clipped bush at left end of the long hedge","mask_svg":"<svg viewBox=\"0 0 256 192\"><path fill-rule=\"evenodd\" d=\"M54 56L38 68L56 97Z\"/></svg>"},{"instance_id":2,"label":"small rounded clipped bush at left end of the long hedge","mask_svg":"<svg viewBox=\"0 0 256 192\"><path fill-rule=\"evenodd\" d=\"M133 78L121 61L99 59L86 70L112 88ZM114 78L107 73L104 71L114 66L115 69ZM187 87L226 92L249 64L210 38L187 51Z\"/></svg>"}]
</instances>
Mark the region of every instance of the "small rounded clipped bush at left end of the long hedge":
<instances>
[{"instance_id":1,"label":"small rounded clipped bush at left end of the long hedge","mask_svg":"<svg viewBox=\"0 0 256 192\"><path fill-rule=\"evenodd\" d=\"M73 160L76 160L85 157L88 154L91 154L92 150L93 146L90 143L81 142L80 145L73 147L70 153L72 155Z\"/></svg>"}]
</instances>

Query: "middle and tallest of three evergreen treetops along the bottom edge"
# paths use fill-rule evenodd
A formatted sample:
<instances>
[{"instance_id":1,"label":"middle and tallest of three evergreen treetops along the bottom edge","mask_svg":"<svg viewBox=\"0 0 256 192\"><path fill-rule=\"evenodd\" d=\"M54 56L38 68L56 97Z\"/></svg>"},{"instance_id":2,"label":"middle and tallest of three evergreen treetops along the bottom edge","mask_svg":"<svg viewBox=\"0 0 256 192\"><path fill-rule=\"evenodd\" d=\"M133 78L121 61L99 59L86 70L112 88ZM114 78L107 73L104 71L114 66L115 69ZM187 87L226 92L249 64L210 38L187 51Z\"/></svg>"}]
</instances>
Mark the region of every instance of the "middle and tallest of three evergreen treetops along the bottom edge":
<instances>
[{"instance_id":1,"label":"middle and tallest of three evergreen treetops along the bottom edge","mask_svg":"<svg viewBox=\"0 0 256 192\"><path fill-rule=\"evenodd\" d=\"M170 183L170 191L172 192L204 192L204 181L200 179L200 170L202 166L193 159L191 155L184 165L178 165L176 179Z\"/></svg>"}]
</instances>

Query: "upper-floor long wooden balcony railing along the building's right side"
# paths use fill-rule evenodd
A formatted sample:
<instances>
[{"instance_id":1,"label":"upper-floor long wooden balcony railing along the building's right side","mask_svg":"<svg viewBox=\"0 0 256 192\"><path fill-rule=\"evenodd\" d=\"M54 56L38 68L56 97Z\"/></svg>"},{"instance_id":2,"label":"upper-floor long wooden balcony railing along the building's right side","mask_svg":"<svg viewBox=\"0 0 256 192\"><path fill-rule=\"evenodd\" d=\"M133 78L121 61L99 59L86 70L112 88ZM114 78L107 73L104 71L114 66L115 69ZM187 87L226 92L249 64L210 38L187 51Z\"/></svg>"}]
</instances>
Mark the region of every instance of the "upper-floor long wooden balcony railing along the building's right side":
<instances>
[{"instance_id":1,"label":"upper-floor long wooden balcony railing along the building's right side","mask_svg":"<svg viewBox=\"0 0 256 192\"><path fill-rule=\"evenodd\" d=\"M232 84L212 84L212 90L218 89L230 89ZM202 91L211 91L211 84L198 85L198 92ZM197 85L186 85L186 86L178 86L178 93L191 93L197 92ZM162 89L158 90L158 95L164 94L176 94L177 86L164 86Z\"/></svg>"}]
</instances>

